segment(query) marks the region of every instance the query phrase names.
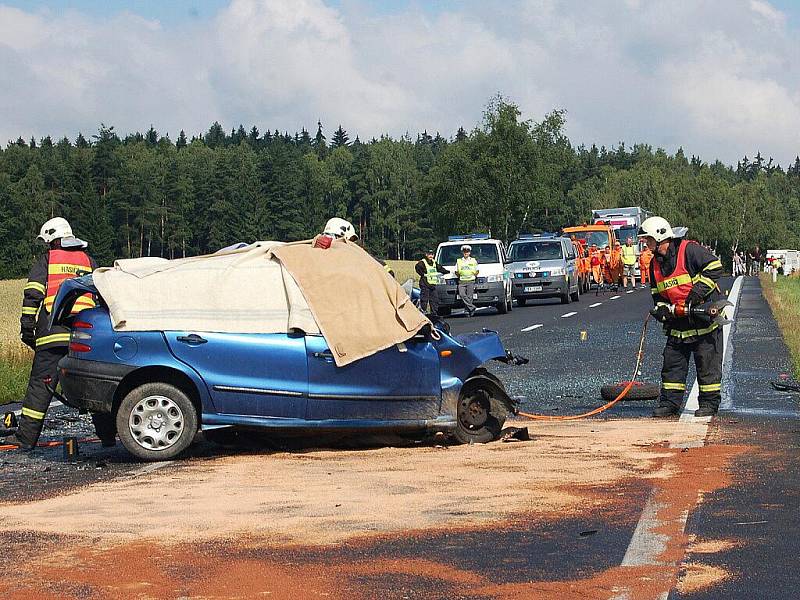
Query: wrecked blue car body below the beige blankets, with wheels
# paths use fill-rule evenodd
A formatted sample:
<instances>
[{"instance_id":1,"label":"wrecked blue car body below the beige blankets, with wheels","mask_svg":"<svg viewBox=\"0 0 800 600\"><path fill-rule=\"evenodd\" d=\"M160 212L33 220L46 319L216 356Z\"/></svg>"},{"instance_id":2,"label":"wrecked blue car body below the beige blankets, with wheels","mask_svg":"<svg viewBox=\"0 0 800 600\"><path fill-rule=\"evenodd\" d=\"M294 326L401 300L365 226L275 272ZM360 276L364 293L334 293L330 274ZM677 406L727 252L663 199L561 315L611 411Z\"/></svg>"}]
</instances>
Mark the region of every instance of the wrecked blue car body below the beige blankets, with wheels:
<instances>
[{"instance_id":1,"label":"wrecked blue car body below the beige blankets, with wheels","mask_svg":"<svg viewBox=\"0 0 800 600\"><path fill-rule=\"evenodd\" d=\"M97 306L70 315L86 293ZM122 444L143 460L171 459L198 430L221 426L488 442L517 408L485 365L526 362L495 332L451 336L442 322L344 367L322 335L118 332L91 275L61 286L52 319L72 331L62 400L113 414Z\"/></svg>"}]
</instances>

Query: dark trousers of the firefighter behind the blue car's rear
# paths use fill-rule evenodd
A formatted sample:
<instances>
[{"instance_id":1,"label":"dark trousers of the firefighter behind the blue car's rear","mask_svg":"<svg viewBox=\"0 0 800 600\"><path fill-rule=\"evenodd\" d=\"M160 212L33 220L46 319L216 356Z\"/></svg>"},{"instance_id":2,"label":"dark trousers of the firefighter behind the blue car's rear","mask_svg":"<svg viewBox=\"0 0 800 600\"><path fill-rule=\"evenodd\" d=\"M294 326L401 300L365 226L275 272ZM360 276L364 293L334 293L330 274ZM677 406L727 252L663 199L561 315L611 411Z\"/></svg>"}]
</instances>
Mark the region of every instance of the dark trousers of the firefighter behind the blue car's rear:
<instances>
[{"instance_id":1,"label":"dark trousers of the firefighter behind the blue car's rear","mask_svg":"<svg viewBox=\"0 0 800 600\"><path fill-rule=\"evenodd\" d=\"M44 418L50 406L52 394L45 386L45 379L56 380L58 361L67 354L66 347L55 347L37 350L33 355L31 375L28 379L28 389L22 401L22 414L19 418L17 439L26 446L33 446L39 441L42 433ZM116 435L116 427L111 415L92 413L92 422L98 437L103 441L110 441Z\"/></svg>"}]
</instances>

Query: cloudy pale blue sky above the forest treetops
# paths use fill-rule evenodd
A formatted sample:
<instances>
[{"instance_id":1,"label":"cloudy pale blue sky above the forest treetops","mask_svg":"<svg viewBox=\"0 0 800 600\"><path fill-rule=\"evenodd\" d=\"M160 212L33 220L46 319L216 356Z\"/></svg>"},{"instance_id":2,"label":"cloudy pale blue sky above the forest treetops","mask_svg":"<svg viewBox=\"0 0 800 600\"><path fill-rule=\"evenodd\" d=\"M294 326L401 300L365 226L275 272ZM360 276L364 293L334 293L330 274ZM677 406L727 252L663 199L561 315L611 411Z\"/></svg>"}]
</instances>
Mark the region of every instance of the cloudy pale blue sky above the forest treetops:
<instances>
[{"instance_id":1,"label":"cloudy pale blue sky above the forest treetops","mask_svg":"<svg viewBox=\"0 0 800 600\"><path fill-rule=\"evenodd\" d=\"M573 144L800 154L800 0L0 0L0 142L100 123L452 137L497 93Z\"/></svg>"}]
</instances>

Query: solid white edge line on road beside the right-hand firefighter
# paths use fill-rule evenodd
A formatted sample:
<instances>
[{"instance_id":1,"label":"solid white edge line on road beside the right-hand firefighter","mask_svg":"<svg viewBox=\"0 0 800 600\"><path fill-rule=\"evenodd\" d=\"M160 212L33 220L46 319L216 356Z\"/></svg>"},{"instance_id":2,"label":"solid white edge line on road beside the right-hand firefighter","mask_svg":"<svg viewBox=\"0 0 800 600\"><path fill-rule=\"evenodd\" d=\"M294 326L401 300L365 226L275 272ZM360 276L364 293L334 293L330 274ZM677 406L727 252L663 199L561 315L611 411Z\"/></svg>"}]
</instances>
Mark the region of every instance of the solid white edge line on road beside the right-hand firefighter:
<instances>
[{"instance_id":1,"label":"solid white edge line on road beside the right-hand firefighter","mask_svg":"<svg viewBox=\"0 0 800 600\"><path fill-rule=\"evenodd\" d=\"M733 303L731 309L733 314L736 312L736 305L739 300L739 294L742 289L742 278L738 277L733 283L729 300ZM725 357L730 351L728 345L728 337L730 336L731 324L723 327L723 365L730 365L730 362L725 361ZM724 368L723 368L724 370ZM686 400L686 405L683 408L680 419L678 419L675 433L672 436L670 443L671 448L686 448L690 446L702 446L705 443L706 434L708 432L708 423L711 417L695 417L694 411L697 409L699 387L695 380L692 389L689 392L689 397ZM659 533L659 529L663 523L658 517L659 511L664 508L664 505L656 501L656 490L650 493L647 503L642 510L642 516L636 524L636 529L631 537L630 544L622 559L623 567L642 566L642 565L668 565L659 560L659 557L664 553L669 543L669 536ZM681 524L681 533L686 527L686 520L689 518L688 511L685 511L678 519ZM679 563L671 563L670 566L677 567ZM667 598L669 592L665 592L658 596L659 598ZM627 591L615 596L615 598L629 597Z\"/></svg>"}]
</instances>

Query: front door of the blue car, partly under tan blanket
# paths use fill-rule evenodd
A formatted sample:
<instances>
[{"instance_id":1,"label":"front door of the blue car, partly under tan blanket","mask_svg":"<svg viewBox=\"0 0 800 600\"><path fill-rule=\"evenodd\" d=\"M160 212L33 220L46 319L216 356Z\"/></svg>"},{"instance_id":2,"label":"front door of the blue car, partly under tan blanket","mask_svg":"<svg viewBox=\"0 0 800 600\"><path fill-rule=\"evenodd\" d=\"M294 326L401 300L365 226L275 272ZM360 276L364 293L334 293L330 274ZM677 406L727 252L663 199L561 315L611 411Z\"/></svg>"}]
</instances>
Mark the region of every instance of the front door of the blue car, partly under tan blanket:
<instances>
[{"instance_id":1,"label":"front door of the blue car, partly under tan blanket","mask_svg":"<svg viewBox=\"0 0 800 600\"><path fill-rule=\"evenodd\" d=\"M439 354L418 336L400 345L337 367L321 335L306 336L306 418L431 419L439 414Z\"/></svg>"}]
</instances>

